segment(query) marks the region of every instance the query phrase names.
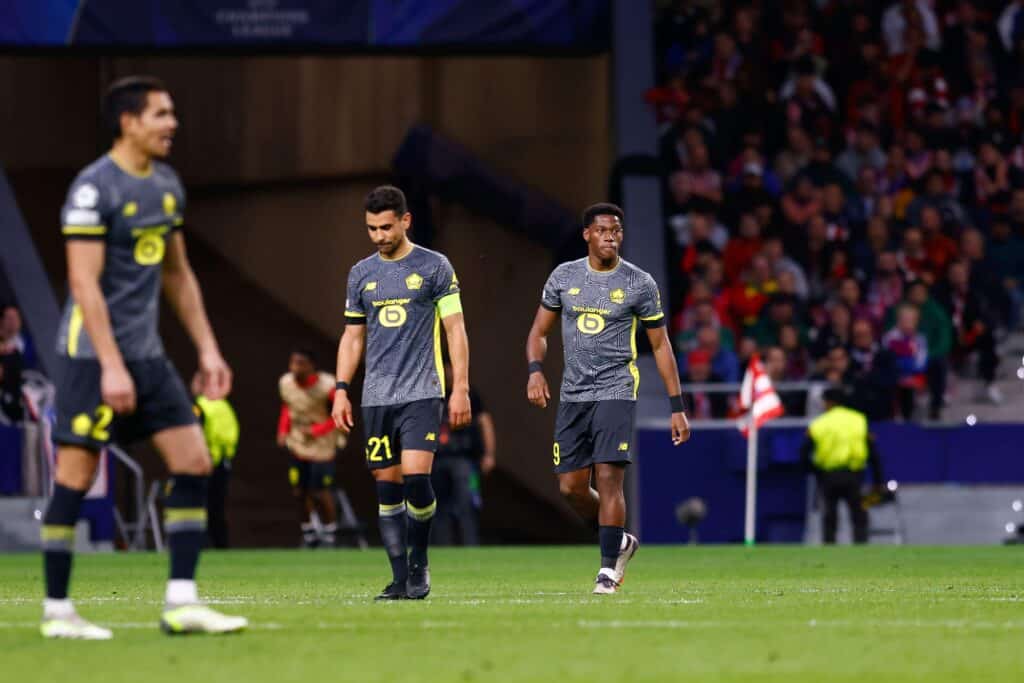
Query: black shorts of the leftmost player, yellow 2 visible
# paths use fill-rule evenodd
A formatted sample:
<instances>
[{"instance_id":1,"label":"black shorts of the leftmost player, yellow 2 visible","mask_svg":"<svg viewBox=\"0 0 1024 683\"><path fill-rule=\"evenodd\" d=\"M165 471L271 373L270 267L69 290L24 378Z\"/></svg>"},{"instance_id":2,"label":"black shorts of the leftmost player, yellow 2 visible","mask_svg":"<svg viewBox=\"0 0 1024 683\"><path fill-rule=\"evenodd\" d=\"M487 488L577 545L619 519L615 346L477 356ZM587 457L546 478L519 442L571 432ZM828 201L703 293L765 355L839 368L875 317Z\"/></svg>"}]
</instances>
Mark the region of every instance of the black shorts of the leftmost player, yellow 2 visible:
<instances>
[{"instance_id":1,"label":"black shorts of the leftmost player, yellow 2 visible","mask_svg":"<svg viewBox=\"0 0 1024 683\"><path fill-rule=\"evenodd\" d=\"M135 382L135 412L115 415L103 403L99 361L58 356L53 440L98 453L111 441L127 444L197 423L191 399L170 360L128 360L125 366Z\"/></svg>"}]
</instances>

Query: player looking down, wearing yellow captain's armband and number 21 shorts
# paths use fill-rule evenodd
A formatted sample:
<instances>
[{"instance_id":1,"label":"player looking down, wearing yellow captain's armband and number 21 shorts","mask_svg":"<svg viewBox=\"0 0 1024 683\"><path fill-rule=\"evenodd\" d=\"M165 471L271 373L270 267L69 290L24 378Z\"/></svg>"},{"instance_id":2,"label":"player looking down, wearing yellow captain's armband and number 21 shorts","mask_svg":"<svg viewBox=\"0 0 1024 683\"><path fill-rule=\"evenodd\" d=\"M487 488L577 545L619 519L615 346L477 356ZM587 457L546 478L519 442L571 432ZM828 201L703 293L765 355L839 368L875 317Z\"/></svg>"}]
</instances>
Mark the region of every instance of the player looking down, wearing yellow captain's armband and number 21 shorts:
<instances>
[{"instance_id":1,"label":"player looking down, wearing yellow captain's armband and number 21 shorts","mask_svg":"<svg viewBox=\"0 0 1024 683\"><path fill-rule=\"evenodd\" d=\"M453 429L471 417L469 340L459 280L442 254L410 241L413 216L401 190L384 185L370 193L366 222L377 253L348 273L332 415L339 428L352 428L348 385L366 349L367 465L377 480L381 538L392 573L377 599L422 599L430 593L427 545L437 507L430 469L444 400L441 327L452 357Z\"/></svg>"}]
</instances>

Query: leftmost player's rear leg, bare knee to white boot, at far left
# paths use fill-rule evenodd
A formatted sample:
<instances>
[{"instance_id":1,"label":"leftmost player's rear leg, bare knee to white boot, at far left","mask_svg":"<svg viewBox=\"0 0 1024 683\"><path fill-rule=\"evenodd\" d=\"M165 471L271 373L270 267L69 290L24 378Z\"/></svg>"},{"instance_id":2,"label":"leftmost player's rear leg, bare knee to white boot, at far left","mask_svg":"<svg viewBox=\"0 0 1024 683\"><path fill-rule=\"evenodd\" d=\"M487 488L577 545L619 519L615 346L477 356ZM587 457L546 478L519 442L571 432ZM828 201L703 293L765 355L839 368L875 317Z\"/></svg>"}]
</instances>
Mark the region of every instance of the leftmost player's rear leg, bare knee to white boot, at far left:
<instances>
[{"instance_id":1,"label":"leftmost player's rear leg, bare knee to white boot, at far left","mask_svg":"<svg viewBox=\"0 0 1024 683\"><path fill-rule=\"evenodd\" d=\"M106 640L113 635L82 620L68 597L75 523L98 462L97 454L83 447L65 445L57 450L53 495L43 515L42 527L46 600L40 630L47 638Z\"/></svg>"}]
</instances>

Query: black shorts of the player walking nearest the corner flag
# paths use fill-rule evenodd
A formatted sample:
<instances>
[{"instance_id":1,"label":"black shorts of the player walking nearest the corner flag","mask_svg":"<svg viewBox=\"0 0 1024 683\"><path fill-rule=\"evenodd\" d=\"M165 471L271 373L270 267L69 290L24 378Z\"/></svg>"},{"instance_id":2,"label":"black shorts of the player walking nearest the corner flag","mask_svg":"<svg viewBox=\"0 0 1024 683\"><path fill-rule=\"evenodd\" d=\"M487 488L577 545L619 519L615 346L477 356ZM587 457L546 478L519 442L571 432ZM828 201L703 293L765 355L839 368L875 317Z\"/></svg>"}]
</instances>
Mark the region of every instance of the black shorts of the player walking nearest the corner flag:
<instances>
[{"instance_id":1,"label":"black shorts of the player walking nearest the corner flag","mask_svg":"<svg viewBox=\"0 0 1024 683\"><path fill-rule=\"evenodd\" d=\"M555 473L582 470L594 463L632 462L636 414L635 400L559 402L551 454Z\"/></svg>"}]
</instances>

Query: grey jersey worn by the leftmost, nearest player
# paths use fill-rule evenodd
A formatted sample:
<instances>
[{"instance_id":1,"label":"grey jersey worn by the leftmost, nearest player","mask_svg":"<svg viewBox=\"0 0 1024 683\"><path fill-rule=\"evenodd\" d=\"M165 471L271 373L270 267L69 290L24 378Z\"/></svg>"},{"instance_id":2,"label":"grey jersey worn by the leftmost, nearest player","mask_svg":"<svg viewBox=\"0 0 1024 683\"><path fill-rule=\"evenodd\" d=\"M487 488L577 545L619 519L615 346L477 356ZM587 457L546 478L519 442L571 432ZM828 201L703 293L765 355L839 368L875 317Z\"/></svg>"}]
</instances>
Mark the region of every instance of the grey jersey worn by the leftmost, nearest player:
<instances>
[{"instance_id":1,"label":"grey jersey worn by the leftmost, nearest player","mask_svg":"<svg viewBox=\"0 0 1024 683\"><path fill-rule=\"evenodd\" d=\"M148 175L122 170L109 156L78 174L60 211L66 240L106 247L99 286L125 360L160 356L160 275L166 241L180 228L185 194L177 174L154 162ZM69 297L57 333L57 352L95 358L82 310Z\"/></svg>"}]
</instances>

